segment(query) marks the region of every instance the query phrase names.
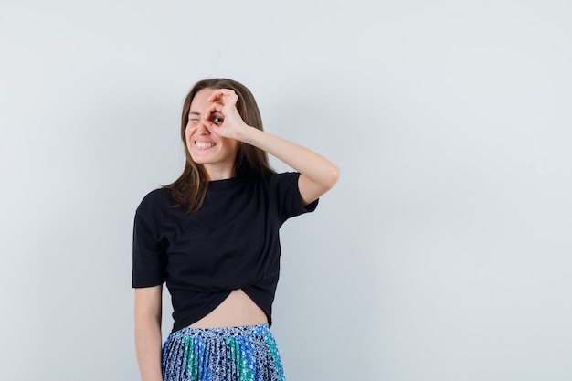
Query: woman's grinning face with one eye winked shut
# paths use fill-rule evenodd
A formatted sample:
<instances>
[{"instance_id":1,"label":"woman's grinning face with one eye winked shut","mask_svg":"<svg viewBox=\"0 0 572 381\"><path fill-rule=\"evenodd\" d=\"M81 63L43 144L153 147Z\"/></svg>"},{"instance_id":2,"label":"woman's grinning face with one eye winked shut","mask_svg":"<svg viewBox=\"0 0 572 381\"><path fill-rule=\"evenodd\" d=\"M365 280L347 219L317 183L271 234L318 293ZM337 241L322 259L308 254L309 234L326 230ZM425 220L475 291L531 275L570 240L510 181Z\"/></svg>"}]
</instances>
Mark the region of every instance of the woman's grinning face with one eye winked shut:
<instances>
[{"instance_id":1,"label":"woman's grinning face with one eye winked shut","mask_svg":"<svg viewBox=\"0 0 572 381\"><path fill-rule=\"evenodd\" d=\"M196 164L203 164L208 180L221 180L234 175L238 142L208 131L201 122L201 118L212 105L207 99L214 91L214 89L200 90L191 101L185 139L191 157ZM222 115L213 114L213 117L217 116L222 118Z\"/></svg>"}]
</instances>

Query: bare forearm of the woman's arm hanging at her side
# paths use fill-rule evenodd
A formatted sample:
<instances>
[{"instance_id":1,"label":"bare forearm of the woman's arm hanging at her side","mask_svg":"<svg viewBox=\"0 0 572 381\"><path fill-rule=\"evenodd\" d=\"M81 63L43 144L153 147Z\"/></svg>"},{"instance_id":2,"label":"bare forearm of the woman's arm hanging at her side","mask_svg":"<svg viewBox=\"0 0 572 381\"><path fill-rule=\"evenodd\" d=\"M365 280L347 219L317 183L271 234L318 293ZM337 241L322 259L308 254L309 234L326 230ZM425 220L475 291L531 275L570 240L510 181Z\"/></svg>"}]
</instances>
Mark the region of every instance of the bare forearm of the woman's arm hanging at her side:
<instances>
[{"instance_id":1,"label":"bare forearm of the woman's arm hanging at her side","mask_svg":"<svg viewBox=\"0 0 572 381\"><path fill-rule=\"evenodd\" d=\"M135 315L135 351L142 381L163 381L161 317Z\"/></svg>"}]
</instances>

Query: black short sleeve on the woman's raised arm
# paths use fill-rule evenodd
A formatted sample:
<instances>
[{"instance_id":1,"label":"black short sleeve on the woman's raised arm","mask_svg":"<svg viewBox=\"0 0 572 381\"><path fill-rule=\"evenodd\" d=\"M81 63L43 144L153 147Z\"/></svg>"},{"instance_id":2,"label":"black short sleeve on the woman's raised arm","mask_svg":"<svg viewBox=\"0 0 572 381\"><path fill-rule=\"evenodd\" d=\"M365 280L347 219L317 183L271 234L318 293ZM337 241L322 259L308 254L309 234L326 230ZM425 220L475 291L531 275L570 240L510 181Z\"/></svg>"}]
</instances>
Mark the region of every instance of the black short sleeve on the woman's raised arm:
<instances>
[{"instance_id":1,"label":"black short sleeve on the woman's raised arm","mask_svg":"<svg viewBox=\"0 0 572 381\"><path fill-rule=\"evenodd\" d=\"M298 172L286 172L274 174L270 179L270 187L278 197L278 216L281 223L288 218L300 216L304 213L313 212L318 206L319 199L304 206L300 189L298 188Z\"/></svg>"}]
</instances>

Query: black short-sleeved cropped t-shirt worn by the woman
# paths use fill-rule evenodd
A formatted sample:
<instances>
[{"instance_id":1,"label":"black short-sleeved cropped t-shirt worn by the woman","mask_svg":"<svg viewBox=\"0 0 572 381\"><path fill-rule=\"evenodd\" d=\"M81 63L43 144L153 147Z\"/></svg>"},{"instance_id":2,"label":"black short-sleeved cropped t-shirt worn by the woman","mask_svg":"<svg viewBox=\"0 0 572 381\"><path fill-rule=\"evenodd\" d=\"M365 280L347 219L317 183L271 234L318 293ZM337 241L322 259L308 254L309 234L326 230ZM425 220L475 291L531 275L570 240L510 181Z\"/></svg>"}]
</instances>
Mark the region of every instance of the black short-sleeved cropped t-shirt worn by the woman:
<instances>
[{"instance_id":1,"label":"black short-sleeved cropped t-shirt worn by the woman","mask_svg":"<svg viewBox=\"0 0 572 381\"><path fill-rule=\"evenodd\" d=\"M280 270L279 228L318 204L316 200L303 206L299 176L211 181L203 206L191 214L174 207L169 189L155 189L135 213L132 286L166 281L174 332L212 312L237 289L245 291L271 323Z\"/></svg>"}]
</instances>

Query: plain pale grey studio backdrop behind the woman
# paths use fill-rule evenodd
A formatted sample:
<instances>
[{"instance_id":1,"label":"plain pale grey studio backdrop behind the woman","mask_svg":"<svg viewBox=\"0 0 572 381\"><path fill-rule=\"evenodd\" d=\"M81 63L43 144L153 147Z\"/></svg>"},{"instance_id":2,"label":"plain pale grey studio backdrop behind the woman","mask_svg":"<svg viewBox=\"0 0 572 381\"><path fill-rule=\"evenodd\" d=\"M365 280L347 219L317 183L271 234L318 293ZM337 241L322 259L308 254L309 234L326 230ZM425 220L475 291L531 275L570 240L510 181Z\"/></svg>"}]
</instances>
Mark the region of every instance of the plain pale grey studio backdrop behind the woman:
<instances>
[{"instance_id":1,"label":"plain pale grey studio backdrop behind the woman","mask_svg":"<svg viewBox=\"0 0 572 381\"><path fill-rule=\"evenodd\" d=\"M572 379L571 14L4 0L0 378L138 379L133 214L183 169L186 92L228 77L342 171L281 230L289 380Z\"/></svg>"}]
</instances>

